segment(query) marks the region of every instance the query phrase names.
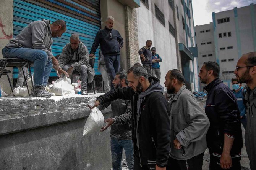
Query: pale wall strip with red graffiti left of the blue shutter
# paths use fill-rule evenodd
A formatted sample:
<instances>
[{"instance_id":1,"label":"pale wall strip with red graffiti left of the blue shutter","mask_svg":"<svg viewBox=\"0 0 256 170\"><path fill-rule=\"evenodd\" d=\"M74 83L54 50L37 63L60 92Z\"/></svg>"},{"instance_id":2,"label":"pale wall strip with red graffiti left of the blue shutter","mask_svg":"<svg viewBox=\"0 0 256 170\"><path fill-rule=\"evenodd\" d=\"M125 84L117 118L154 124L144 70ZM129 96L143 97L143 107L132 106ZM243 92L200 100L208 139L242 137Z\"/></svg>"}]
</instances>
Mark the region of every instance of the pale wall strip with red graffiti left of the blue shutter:
<instances>
[{"instance_id":1,"label":"pale wall strip with red graffiti left of the blue shutter","mask_svg":"<svg viewBox=\"0 0 256 170\"><path fill-rule=\"evenodd\" d=\"M2 48L13 38L13 0L1 0L0 5L0 58L3 58ZM8 68L12 71L12 68ZM12 79L12 74L10 74ZM0 86L3 91L10 94L11 88L5 75L0 79Z\"/></svg>"}]
</instances>

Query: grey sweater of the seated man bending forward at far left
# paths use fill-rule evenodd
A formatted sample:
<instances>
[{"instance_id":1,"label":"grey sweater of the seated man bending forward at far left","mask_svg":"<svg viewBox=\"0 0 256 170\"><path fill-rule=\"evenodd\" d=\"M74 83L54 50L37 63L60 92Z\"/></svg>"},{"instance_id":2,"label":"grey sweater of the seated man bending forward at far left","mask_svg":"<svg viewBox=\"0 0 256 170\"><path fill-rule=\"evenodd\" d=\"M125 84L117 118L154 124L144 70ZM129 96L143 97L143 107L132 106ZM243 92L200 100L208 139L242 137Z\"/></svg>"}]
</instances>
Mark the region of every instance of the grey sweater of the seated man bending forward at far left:
<instances>
[{"instance_id":1,"label":"grey sweater of the seated man bending forward at far left","mask_svg":"<svg viewBox=\"0 0 256 170\"><path fill-rule=\"evenodd\" d=\"M51 59L53 43L50 20L34 21L28 24L16 38L10 40L7 48L33 48L45 51Z\"/></svg>"}]
</instances>

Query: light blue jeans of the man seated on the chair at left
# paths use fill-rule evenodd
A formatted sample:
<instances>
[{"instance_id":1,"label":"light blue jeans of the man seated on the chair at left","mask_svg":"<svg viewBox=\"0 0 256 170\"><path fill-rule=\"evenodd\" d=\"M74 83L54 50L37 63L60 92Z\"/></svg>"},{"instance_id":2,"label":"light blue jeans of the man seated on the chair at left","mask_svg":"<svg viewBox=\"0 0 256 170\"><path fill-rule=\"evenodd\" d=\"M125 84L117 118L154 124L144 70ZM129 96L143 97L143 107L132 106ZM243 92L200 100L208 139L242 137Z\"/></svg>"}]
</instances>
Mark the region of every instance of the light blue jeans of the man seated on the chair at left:
<instances>
[{"instance_id":1,"label":"light blue jeans of the man seated on the chair at left","mask_svg":"<svg viewBox=\"0 0 256 170\"><path fill-rule=\"evenodd\" d=\"M4 58L19 58L34 62L34 86L46 86L51 70L52 60L45 51L32 48L3 48Z\"/></svg>"}]
</instances>

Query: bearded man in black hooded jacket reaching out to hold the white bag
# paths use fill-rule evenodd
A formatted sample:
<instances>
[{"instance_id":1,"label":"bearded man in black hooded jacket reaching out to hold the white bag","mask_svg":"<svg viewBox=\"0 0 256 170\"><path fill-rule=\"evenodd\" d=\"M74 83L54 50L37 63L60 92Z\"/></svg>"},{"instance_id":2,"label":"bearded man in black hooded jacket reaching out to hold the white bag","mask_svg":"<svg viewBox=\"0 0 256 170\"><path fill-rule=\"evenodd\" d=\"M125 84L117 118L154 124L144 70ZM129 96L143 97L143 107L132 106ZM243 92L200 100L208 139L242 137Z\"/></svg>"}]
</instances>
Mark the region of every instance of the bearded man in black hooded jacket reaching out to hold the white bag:
<instances>
[{"instance_id":1,"label":"bearded man in black hooded jacket reaching out to hold the white bag","mask_svg":"<svg viewBox=\"0 0 256 170\"><path fill-rule=\"evenodd\" d=\"M131 100L134 170L166 170L170 153L168 103L159 79L147 78L147 70L133 66L127 71L129 87L98 97L95 106L118 98Z\"/></svg>"}]
</instances>

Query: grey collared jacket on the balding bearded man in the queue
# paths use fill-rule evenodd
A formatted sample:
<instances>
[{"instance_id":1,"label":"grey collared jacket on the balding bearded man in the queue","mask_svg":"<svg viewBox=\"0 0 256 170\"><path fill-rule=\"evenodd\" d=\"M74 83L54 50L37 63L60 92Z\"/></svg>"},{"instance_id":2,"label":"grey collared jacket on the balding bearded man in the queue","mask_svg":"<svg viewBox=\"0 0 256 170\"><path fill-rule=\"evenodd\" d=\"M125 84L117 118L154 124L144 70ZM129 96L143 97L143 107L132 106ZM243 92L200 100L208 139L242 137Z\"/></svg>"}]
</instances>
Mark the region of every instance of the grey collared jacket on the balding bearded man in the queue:
<instances>
[{"instance_id":1,"label":"grey collared jacket on the balding bearded man in the queue","mask_svg":"<svg viewBox=\"0 0 256 170\"><path fill-rule=\"evenodd\" d=\"M194 94L183 85L169 100L171 121L171 154L177 160L187 160L203 153L206 148L206 133L210 122L200 108ZM175 149L173 141L182 145Z\"/></svg>"}]
</instances>

